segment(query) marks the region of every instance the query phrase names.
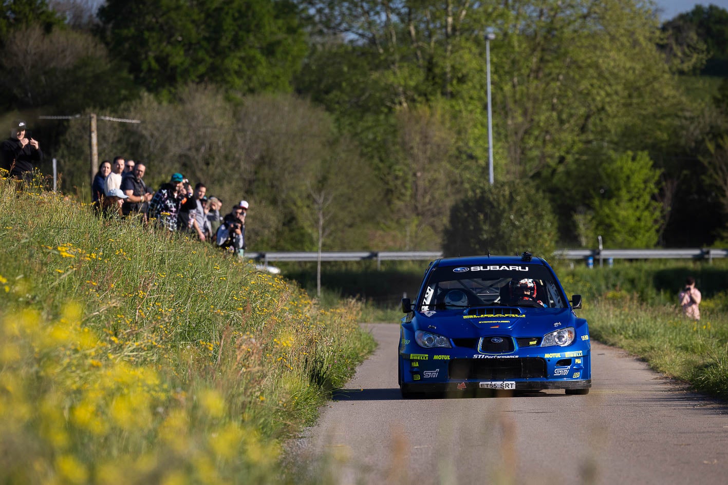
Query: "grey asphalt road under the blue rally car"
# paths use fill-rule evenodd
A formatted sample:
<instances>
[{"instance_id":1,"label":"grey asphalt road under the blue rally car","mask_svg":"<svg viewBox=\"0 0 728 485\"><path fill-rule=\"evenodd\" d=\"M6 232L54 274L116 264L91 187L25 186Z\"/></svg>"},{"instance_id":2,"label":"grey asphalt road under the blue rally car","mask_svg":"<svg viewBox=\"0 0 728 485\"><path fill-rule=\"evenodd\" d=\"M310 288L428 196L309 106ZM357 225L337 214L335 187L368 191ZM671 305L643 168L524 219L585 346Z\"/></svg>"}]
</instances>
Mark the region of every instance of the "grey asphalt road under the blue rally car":
<instances>
[{"instance_id":1,"label":"grey asphalt road under the blue rally car","mask_svg":"<svg viewBox=\"0 0 728 485\"><path fill-rule=\"evenodd\" d=\"M290 447L335 484L728 484L728 406L592 341L587 396L403 400L396 324Z\"/></svg>"}]
</instances>

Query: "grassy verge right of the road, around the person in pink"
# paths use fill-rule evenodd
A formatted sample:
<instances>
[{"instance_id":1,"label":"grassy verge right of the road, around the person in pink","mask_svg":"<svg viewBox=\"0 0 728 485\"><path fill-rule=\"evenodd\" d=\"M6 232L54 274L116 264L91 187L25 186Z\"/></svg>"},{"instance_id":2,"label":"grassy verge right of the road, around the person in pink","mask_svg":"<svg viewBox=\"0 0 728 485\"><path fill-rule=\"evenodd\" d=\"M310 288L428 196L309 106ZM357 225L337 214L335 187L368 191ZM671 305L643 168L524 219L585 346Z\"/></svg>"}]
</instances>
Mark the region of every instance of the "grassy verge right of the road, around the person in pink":
<instances>
[{"instance_id":1,"label":"grassy verge right of the road, around the person in pink","mask_svg":"<svg viewBox=\"0 0 728 485\"><path fill-rule=\"evenodd\" d=\"M566 293L585 295L579 316L594 339L644 359L696 390L728 398L728 262L620 262L587 269L561 264ZM700 321L685 318L677 294L686 276L703 293Z\"/></svg>"}]
</instances>

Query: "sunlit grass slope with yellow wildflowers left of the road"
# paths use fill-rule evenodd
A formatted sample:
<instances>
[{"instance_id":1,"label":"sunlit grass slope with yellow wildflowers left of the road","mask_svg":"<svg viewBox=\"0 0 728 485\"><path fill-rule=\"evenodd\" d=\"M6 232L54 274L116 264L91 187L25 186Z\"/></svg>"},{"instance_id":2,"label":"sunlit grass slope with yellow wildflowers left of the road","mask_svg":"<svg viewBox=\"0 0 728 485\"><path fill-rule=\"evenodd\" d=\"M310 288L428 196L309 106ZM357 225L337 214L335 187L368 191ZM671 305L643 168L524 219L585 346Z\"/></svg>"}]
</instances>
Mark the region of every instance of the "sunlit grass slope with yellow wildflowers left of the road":
<instances>
[{"instance_id":1,"label":"sunlit grass slope with yellow wildflowers left of the road","mask_svg":"<svg viewBox=\"0 0 728 485\"><path fill-rule=\"evenodd\" d=\"M373 348L355 303L0 180L0 482L281 483Z\"/></svg>"}]
</instances>

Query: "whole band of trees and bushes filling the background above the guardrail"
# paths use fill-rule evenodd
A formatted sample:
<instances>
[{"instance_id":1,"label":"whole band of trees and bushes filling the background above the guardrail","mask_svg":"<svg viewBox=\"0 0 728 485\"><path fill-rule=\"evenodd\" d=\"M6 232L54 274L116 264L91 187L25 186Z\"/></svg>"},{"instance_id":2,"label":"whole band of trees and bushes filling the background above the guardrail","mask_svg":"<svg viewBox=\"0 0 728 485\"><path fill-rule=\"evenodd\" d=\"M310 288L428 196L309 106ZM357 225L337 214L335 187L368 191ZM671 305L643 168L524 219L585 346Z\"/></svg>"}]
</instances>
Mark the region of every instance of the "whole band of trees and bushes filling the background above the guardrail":
<instances>
[{"instance_id":1,"label":"whole band of trees and bushes filling the background above the guardrail","mask_svg":"<svg viewBox=\"0 0 728 485\"><path fill-rule=\"evenodd\" d=\"M9 0L0 127L246 199L252 250L728 240L728 11L649 0ZM494 176L488 183L486 32ZM716 77L717 76L717 77ZM38 119L68 116L78 119Z\"/></svg>"}]
</instances>

